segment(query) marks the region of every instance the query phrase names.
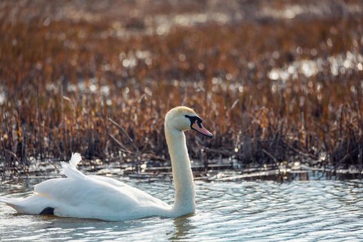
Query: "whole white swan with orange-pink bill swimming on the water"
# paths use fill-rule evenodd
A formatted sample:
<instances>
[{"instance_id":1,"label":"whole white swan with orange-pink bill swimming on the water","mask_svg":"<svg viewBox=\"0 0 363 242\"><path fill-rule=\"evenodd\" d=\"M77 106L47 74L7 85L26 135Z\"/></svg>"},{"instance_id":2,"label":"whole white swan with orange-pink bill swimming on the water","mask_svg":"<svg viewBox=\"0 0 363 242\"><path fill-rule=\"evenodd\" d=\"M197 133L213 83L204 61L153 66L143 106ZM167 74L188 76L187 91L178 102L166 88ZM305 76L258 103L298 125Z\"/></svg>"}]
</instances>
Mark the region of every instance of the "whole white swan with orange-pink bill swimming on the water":
<instances>
[{"instance_id":1,"label":"whole white swan with orange-pink bill swimming on the water","mask_svg":"<svg viewBox=\"0 0 363 242\"><path fill-rule=\"evenodd\" d=\"M66 178L53 178L35 185L32 196L27 198L0 197L0 203L6 203L24 214L104 221L127 221L150 216L174 218L194 213L195 189L184 131L192 129L212 138L212 133L203 127L202 122L186 106L175 107L165 116L165 137L175 186L173 206L119 180L84 175L77 169L78 162L82 160L79 153L73 153L69 162L62 162L61 173Z\"/></svg>"}]
</instances>

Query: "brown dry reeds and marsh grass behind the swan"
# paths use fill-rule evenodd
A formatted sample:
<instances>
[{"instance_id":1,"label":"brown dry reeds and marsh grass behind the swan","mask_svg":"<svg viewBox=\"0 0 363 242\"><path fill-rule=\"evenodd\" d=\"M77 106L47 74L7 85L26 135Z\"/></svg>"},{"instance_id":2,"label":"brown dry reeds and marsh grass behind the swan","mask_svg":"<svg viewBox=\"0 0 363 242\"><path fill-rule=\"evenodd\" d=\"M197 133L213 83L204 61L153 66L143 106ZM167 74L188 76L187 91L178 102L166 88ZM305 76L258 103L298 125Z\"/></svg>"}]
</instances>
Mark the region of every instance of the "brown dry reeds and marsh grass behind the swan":
<instances>
[{"instance_id":1,"label":"brown dry reeds and marsh grass behind the swan","mask_svg":"<svg viewBox=\"0 0 363 242\"><path fill-rule=\"evenodd\" d=\"M362 1L2 1L0 23L3 177L75 151L156 172L180 105L214 133L187 133L203 169L362 174Z\"/></svg>"}]
</instances>

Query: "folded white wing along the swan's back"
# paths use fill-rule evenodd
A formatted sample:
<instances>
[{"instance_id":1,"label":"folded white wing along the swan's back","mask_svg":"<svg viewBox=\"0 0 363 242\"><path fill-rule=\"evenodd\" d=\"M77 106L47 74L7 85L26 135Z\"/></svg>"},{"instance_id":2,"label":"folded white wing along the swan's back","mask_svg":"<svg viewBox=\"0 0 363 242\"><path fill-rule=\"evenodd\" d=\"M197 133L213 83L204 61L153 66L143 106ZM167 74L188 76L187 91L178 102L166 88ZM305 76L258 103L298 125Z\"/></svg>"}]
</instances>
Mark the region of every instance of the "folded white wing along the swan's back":
<instances>
[{"instance_id":1,"label":"folded white wing along the swan's back","mask_svg":"<svg viewBox=\"0 0 363 242\"><path fill-rule=\"evenodd\" d=\"M73 206L86 203L96 204L101 201L102 204L109 204L113 207L132 206L133 204L168 206L158 198L136 187L103 176L84 176L78 179L54 178L35 185L34 191L42 196Z\"/></svg>"}]
</instances>

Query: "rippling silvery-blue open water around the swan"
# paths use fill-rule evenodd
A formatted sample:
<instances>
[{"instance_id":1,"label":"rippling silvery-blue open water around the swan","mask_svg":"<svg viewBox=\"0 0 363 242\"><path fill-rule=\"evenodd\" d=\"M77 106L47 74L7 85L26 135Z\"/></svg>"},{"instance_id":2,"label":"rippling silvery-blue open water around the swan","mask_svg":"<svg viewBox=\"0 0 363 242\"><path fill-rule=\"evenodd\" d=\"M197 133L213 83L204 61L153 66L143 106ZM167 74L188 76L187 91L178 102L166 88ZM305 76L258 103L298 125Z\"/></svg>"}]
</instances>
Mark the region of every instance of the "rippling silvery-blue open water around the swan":
<instances>
[{"instance_id":1,"label":"rippling silvery-blue open water around the swan","mask_svg":"<svg viewBox=\"0 0 363 242\"><path fill-rule=\"evenodd\" d=\"M0 196L27 196L36 183L3 185ZM173 201L169 180L127 183ZM196 214L124 222L15 214L0 205L0 240L363 241L362 180L196 181L196 192Z\"/></svg>"}]
</instances>

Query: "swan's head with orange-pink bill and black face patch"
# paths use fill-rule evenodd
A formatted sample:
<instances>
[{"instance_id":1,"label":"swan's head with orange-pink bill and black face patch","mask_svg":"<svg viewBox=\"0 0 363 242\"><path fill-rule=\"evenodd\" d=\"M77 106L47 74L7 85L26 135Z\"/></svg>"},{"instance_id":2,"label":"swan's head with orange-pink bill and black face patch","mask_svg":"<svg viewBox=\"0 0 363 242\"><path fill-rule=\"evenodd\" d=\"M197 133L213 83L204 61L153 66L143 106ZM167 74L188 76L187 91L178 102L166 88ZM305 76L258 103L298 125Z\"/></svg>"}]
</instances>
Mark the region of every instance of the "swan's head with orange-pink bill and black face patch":
<instances>
[{"instance_id":1,"label":"swan's head with orange-pink bill and black face patch","mask_svg":"<svg viewBox=\"0 0 363 242\"><path fill-rule=\"evenodd\" d=\"M165 116L165 126L168 126L169 128L179 131L192 129L204 136L212 138L212 133L203 127L202 122L203 120L196 115L196 112L194 112L193 109L189 109L187 106L177 106L174 109L170 109Z\"/></svg>"}]
</instances>

